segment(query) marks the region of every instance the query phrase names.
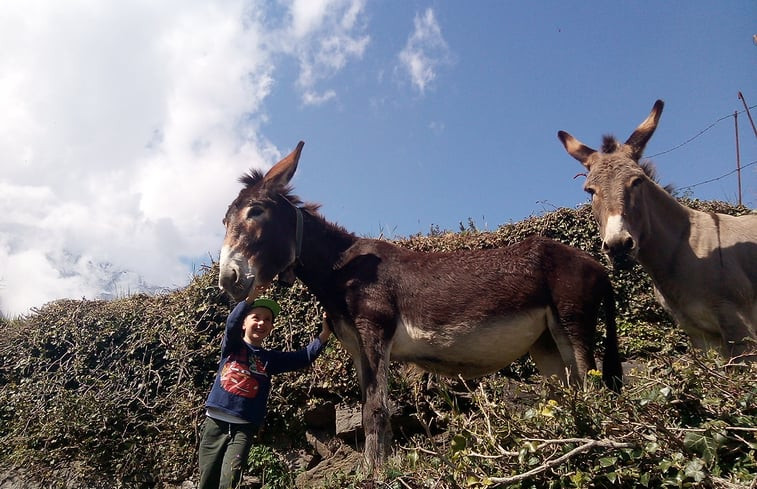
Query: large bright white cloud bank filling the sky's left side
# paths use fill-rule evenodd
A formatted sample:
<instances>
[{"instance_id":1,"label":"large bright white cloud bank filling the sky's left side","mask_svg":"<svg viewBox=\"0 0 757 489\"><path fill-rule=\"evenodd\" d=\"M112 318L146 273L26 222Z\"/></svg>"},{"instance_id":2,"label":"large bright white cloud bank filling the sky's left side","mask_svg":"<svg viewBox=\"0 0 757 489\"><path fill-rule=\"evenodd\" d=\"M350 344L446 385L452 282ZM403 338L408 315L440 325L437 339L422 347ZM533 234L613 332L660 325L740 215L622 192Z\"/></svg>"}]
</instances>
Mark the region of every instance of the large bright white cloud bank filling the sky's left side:
<instances>
[{"instance_id":1,"label":"large bright white cloud bank filling the sky's left side","mask_svg":"<svg viewBox=\"0 0 757 489\"><path fill-rule=\"evenodd\" d=\"M187 259L217 253L237 177L279 156L261 134L276 63L308 59L303 96L324 103L315 81L367 42L351 35L362 2L294 2L291 49L266 8L0 3L0 312L182 286Z\"/></svg>"}]
</instances>

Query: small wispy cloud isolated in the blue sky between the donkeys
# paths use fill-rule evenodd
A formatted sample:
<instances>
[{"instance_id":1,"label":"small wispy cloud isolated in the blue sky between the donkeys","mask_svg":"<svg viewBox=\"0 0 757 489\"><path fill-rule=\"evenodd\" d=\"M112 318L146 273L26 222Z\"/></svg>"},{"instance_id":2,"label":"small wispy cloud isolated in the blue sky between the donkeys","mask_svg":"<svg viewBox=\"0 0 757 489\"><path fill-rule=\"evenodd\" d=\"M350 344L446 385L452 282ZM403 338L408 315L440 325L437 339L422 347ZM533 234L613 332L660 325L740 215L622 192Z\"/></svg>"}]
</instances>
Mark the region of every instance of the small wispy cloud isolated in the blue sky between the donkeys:
<instances>
[{"instance_id":1,"label":"small wispy cloud isolated in the blue sky between the donkeys","mask_svg":"<svg viewBox=\"0 0 757 489\"><path fill-rule=\"evenodd\" d=\"M416 14L413 25L413 33L399 53L400 66L423 94L436 79L439 66L451 62L450 50L432 9L426 9L423 15Z\"/></svg>"}]
</instances>

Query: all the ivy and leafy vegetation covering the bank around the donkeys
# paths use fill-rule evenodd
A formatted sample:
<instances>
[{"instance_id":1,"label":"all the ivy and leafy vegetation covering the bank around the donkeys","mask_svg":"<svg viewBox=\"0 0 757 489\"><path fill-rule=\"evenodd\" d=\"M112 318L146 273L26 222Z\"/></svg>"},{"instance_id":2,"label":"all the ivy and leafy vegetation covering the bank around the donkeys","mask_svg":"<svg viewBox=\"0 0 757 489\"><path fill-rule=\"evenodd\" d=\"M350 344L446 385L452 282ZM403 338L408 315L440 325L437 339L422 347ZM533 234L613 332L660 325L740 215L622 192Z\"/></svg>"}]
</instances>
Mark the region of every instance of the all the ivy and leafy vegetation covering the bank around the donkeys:
<instances>
[{"instance_id":1,"label":"all the ivy and leafy vegetation covering the bank around the donkeys","mask_svg":"<svg viewBox=\"0 0 757 489\"><path fill-rule=\"evenodd\" d=\"M740 214L718 202L686 201ZM600 255L587 207L558 209L494 232L472 222L398 241L417 250L502 246L534 233ZM196 471L203 403L229 300L217 267L182 290L114 301L61 300L0 319L0 473L45 487L167 487ZM690 351L639 267L613 274L621 353L635 365L620 396L540 378L523 359L471 382L402 375L391 395L426 434L397 437L380 482L336 474L328 486L749 487L757 480L757 366ZM298 283L272 291L284 311L269 345L303 346L320 308ZM600 344L599 338L597 344ZM265 487L291 487L281 454L306 446L304 411L360 400L336 342L305 372L280 376L256 448ZM265 462L265 463L263 463ZM263 467L263 465L265 467ZM263 473L265 470L265 473Z\"/></svg>"}]
</instances>

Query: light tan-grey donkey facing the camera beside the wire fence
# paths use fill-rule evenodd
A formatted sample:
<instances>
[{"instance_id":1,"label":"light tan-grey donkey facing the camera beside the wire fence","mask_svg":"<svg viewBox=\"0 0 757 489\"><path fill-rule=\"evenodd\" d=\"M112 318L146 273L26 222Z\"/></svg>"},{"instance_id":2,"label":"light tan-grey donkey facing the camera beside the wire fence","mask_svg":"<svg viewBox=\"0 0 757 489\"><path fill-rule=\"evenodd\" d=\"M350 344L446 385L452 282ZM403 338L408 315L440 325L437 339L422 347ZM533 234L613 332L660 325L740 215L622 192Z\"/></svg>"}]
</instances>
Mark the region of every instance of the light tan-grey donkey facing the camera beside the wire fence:
<instances>
[{"instance_id":1,"label":"light tan-grey donkey facing the camera beside the wire fence","mask_svg":"<svg viewBox=\"0 0 757 489\"><path fill-rule=\"evenodd\" d=\"M658 100L624 144L605 136L601 151L557 136L589 170L584 189L613 264L638 260L695 346L742 355L757 340L757 215L690 209L650 178L651 165L639 160L662 107Z\"/></svg>"}]
</instances>

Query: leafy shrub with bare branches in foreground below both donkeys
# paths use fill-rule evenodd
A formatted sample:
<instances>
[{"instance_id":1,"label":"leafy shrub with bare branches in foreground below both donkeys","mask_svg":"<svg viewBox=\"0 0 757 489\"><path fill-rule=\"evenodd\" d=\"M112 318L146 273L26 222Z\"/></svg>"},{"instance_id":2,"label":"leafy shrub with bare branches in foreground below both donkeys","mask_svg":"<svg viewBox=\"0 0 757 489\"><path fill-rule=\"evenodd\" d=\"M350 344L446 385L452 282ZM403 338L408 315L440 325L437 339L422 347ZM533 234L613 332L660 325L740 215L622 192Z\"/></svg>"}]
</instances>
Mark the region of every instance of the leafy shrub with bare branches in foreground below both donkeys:
<instances>
[{"instance_id":1,"label":"leafy shrub with bare branches in foreground below both donkeys","mask_svg":"<svg viewBox=\"0 0 757 489\"><path fill-rule=\"evenodd\" d=\"M445 489L757 481L757 366L695 352L648 362L620 396L601 387L598 372L584 388L491 376L461 392L439 379L447 394L421 394L418 402L445 413L447 432L398 448L385 482Z\"/></svg>"}]
</instances>

